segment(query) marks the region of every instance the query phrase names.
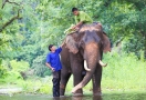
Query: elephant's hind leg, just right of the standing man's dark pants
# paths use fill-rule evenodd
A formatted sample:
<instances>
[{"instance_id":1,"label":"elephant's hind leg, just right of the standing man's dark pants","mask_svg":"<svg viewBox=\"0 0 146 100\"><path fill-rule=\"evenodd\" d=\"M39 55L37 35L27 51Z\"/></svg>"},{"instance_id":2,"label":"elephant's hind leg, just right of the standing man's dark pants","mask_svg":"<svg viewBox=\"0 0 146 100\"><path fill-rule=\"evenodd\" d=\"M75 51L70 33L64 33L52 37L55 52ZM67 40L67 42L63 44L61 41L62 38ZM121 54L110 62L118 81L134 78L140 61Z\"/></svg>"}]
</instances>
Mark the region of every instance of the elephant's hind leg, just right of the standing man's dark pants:
<instances>
[{"instance_id":1,"label":"elephant's hind leg, just right of the standing man's dark pants","mask_svg":"<svg viewBox=\"0 0 146 100\"><path fill-rule=\"evenodd\" d=\"M71 72L62 72L61 74L61 83L60 83L60 96L64 96L66 83L71 77Z\"/></svg>"}]
</instances>

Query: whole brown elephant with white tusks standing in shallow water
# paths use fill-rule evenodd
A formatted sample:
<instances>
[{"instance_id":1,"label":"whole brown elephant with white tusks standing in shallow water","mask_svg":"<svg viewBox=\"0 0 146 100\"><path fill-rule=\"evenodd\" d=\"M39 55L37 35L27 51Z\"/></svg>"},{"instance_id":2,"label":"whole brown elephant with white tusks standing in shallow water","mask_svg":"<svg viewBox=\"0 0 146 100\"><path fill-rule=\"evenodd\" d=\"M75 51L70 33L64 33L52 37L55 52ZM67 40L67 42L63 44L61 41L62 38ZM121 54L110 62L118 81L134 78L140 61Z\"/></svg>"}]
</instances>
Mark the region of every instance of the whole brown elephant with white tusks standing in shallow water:
<instances>
[{"instance_id":1,"label":"whole brown elephant with white tusks standing in shallow water","mask_svg":"<svg viewBox=\"0 0 146 100\"><path fill-rule=\"evenodd\" d=\"M83 94L82 88L93 81L93 94L101 93L103 52L111 51L111 42L103 29L96 24L84 24L66 36L62 47L60 94L64 96L66 83L73 74L74 88L72 93ZM85 72L85 73L84 73Z\"/></svg>"}]
</instances>

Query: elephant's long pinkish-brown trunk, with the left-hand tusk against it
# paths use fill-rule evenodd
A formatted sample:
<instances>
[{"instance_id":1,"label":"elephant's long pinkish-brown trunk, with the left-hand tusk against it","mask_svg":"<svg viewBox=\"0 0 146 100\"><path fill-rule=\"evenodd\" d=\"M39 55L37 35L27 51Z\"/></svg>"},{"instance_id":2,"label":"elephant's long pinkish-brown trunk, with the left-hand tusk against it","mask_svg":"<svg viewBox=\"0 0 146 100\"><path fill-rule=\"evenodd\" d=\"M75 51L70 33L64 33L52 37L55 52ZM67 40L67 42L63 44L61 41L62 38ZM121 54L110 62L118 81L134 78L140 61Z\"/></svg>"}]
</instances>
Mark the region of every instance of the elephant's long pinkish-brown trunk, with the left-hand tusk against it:
<instances>
[{"instance_id":1,"label":"elephant's long pinkish-brown trunk, with the left-hand tusk against it","mask_svg":"<svg viewBox=\"0 0 146 100\"><path fill-rule=\"evenodd\" d=\"M73 88L73 90L72 90L73 93L76 90L86 86L90 82L90 80L92 79L93 73L95 72L97 63L101 59L100 51L97 51L97 50L98 50L98 47L96 44L91 44L91 47L90 46L85 47L84 68L86 70L86 74L83 78L83 80L77 86L75 86Z\"/></svg>"}]
</instances>

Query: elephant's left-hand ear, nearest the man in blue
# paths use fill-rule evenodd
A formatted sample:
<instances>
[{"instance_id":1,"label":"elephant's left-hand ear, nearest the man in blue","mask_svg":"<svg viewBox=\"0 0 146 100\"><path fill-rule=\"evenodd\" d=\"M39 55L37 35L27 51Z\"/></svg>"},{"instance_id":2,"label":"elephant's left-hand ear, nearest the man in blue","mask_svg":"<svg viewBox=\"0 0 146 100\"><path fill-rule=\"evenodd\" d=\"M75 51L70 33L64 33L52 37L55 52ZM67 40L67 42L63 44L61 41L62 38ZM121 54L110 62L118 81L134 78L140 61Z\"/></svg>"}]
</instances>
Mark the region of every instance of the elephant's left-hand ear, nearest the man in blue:
<instances>
[{"instance_id":1,"label":"elephant's left-hand ear, nearest the man in blue","mask_svg":"<svg viewBox=\"0 0 146 100\"><path fill-rule=\"evenodd\" d=\"M77 48L77 33L73 32L66 36L66 48L70 52L73 52L74 54L79 52Z\"/></svg>"}]
</instances>

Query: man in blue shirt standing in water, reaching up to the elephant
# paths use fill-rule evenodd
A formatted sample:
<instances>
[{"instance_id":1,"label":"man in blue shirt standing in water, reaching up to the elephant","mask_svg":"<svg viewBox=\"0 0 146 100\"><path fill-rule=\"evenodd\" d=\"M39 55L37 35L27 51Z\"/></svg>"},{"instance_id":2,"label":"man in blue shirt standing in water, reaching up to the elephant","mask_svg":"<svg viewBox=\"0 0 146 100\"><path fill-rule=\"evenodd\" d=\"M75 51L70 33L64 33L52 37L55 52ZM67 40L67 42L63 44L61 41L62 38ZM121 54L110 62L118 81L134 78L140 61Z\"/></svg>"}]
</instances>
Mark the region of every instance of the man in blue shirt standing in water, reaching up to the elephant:
<instances>
[{"instance_id":1,"label":"man in blue shirt standing in water, reaching up to the elephant","mask_svg":"<svg viewBox=\"0 0 146 100\"><path fill-rule=\"evenodd\" d=\"M60 97L60 80L62 64L59 54L62 51L62 46L56 49L53 44L50 44L49 50L51 52L46 56L45 64L52 70L53 73L53 97Z\"/></svg>"}]
</instances>

